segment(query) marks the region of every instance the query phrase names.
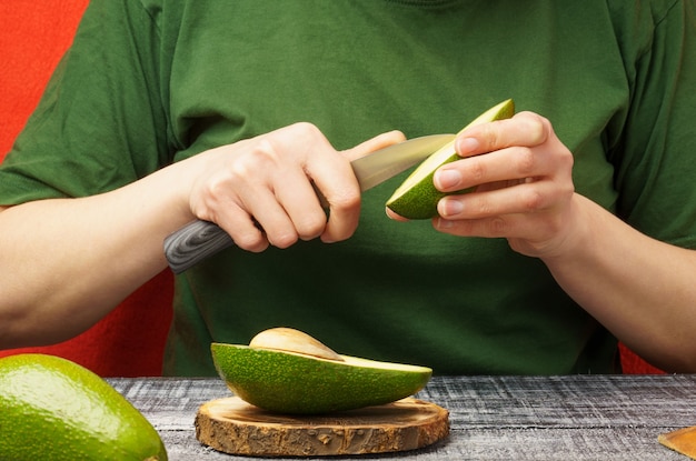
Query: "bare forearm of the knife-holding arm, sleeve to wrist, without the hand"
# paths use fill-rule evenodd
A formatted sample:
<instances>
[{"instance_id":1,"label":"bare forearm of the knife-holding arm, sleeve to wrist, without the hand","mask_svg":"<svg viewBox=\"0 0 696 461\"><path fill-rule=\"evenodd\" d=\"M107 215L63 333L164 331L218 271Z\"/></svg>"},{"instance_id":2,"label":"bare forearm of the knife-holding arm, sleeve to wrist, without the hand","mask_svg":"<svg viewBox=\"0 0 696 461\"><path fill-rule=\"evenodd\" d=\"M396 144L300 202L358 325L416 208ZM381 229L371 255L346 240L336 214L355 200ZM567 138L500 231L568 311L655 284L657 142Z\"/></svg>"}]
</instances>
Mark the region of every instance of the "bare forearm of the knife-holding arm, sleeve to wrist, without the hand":
<instances>
[{"instance_id":1,"label":"bare forearm of the knife-holding arm, sleeve to wrist, without the hand","mask_svg":"<svg viewBox=\"0 0 696 461\"><path fill-rule=\"evenodd\" d=\"M192 219L177 180L170 167L109 193L0 212L0 348L70 338L161 271L163 238Z\"/></svg>"}]
</instances>

